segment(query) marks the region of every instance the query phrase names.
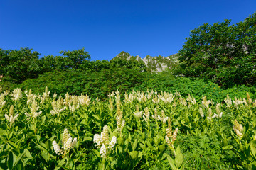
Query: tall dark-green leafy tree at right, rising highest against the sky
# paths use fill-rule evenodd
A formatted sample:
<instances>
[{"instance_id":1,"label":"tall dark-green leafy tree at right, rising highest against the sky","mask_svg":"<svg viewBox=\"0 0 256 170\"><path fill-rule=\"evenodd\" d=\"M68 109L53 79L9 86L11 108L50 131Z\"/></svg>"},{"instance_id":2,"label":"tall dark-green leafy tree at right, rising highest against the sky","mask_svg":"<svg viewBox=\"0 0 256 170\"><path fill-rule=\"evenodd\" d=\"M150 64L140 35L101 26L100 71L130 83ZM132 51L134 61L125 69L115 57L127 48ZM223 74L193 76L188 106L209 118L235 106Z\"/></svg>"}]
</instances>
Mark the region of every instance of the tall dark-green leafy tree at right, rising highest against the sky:
<instances>
[{"instance_id":1,"label":"tall dark-green leafy tree at right, rising highest against the sky","mask_svg":"<svg viewBox=\"0 0 256 170\"><path fill-rule=\"evenodd\" d=\"M176 74L211 79L222 86L255 84L256 13L230 26L203 24L191 31L178 52L180 67Z\"/></svg>"}]
</instances>

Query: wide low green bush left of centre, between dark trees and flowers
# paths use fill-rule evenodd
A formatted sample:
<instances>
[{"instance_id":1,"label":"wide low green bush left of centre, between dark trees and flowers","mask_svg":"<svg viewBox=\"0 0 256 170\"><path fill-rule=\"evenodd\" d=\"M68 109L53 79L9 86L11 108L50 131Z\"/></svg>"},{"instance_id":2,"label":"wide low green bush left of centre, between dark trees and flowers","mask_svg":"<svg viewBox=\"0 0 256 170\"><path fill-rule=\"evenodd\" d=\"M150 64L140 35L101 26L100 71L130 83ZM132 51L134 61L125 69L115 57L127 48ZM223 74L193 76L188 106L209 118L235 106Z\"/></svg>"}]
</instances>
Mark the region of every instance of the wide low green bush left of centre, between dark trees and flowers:
<instances>
[{"instance_id":1,"label":"wide low green bush left of centre, between dark trees and flowers","mask_svg":"<svg viewBox=\"0 0 256 170\"><path fill-rule=\"evenodd\" d=\"M144 73L132 69L102 69L100 72L48 72L37 79L28 79L19 86L42 93L45 86L56 94L88 94L92 98L105 99L112 91L129 91L141 84Z\"/></svg>"}]
</instances>

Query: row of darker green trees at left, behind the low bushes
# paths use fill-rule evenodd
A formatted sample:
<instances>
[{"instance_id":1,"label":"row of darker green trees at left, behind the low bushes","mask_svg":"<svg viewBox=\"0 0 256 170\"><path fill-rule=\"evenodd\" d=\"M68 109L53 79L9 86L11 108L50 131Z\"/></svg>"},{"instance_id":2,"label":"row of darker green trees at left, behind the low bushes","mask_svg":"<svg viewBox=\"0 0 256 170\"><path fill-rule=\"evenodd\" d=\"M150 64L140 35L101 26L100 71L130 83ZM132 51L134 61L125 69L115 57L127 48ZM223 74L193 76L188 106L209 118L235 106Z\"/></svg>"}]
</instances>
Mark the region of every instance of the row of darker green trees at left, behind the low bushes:
<instances>
[{"instance_id":1,"label":"row of darker green trees at left, behind the low bushes","mask_svg":"<svg viewBox=\"0 0 256 170\"><path fill-rule=\"evenodd\" d=\"M101 69L126 67L138 72L144 71L145 66L137 62L124 60L97 60L90 61L90 55L85 49L73 51L61 51L62 56L48 55L39 59L39 52L33 49L21 48L21 50L0 49L0 75L2 80L8 80L21 84L27 79L35 79L47 72L99 72Z\"/></svg>"}]
</instances>

